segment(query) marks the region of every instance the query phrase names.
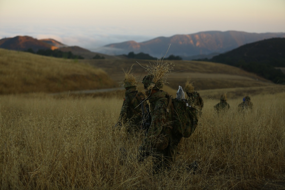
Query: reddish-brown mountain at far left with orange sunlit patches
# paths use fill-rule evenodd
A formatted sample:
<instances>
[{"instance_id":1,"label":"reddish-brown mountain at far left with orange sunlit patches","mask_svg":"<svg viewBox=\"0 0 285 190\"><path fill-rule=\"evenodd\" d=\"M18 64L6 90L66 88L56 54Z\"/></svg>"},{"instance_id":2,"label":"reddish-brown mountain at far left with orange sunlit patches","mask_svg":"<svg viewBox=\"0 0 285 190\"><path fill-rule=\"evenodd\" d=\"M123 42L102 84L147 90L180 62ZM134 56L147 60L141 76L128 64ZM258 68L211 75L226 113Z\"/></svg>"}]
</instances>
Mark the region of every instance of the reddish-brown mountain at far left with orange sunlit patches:
<instances>
[{"instance_id":1,"label":"reddish-brown mountain at far left with orange sunlit patches","mask_svg":"<svg viewBox=\"0 0 285 190\"><path fill-rule=\"evenodd\" d=\"M16 36L14 38L3 38L0 40L0 48L18 51L57 49L56 46L42 42L30 36Z\"/></svg>"}]
</instances>

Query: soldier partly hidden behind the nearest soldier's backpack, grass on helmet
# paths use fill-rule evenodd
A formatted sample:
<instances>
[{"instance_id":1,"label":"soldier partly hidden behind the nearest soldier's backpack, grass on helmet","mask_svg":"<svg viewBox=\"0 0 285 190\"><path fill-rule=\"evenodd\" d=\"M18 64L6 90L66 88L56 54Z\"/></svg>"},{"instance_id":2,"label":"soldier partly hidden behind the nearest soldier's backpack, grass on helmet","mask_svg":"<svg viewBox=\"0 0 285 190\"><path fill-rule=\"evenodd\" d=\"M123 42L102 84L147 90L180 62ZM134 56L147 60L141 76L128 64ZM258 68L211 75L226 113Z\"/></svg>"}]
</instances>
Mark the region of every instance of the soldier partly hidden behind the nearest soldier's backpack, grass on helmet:
<instances>
[{"instance_id":1,"label":"soldier partly hidden behind the nearest soldier's backpack, grass on helmet","mask_svg":"<svg viewBox=\"0 0 285 190\"><path fill-rule=\"evenodd\" d=\"M186 82L185 88L184 88L186 94L187 94L187 102L191 107L194 107L198 110L199 115L202 114L202 108L204 106L203 99L201 98L200 94L196 91L194 91L194 86L192 83L189 82L189 80Z\"/></svg>"}]
</instances>

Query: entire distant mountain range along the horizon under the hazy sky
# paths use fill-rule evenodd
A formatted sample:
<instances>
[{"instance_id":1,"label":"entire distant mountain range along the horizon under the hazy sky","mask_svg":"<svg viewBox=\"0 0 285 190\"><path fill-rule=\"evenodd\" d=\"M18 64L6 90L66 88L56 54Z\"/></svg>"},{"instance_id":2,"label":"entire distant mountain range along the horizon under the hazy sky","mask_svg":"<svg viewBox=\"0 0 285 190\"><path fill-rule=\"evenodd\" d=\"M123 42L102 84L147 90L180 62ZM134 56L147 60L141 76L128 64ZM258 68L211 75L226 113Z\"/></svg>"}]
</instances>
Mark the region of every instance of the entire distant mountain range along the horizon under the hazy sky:
<instances>
[{"instance_id":1,"label":"entire distant mountain range along the horizon under the hazy sky","mask_svg":"<svg viewBox=\"0 0 285 190\"><path fill-rule=\"evenodd\" d=\"M136 54L143 52L157 58L161 58L167 53L166 56L175 55L180 56L183 60L193 60L197 58L210 59L215 55L233 50L244 44L276 37L285 38L285 32L249 33L233 30L225 32L214 30L194 34L176 34L170 37L159 36L144 42L129 40L108 44L93 52L79 46L67 46L51 38L37 40L30 36L16 36L1 39L0 48L22 51L31 48L34 52L39 49L68 50L87 59L93 58L96 54L105 58L119 58L118 55L128 54L129 52Z\"/></svg>"}]
</instances>

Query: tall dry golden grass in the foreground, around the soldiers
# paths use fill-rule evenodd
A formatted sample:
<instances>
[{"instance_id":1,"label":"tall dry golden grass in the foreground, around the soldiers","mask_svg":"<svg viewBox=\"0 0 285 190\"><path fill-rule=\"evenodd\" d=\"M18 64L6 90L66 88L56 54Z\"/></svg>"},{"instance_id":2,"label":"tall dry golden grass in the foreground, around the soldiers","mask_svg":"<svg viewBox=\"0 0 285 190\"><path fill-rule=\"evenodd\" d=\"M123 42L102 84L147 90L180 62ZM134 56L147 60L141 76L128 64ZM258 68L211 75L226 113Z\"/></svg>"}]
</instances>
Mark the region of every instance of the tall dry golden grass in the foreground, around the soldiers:
<instances>
[{"instance_id":1,"label":"tall dry golden grass in the foreground, around the soldiers","mask_svg":"<svg viewBox=\"0 0 285 190\"><path fill-rule=\"evenodd\" d=\"M261 189L285 184L285 93L252 96L254 109L224 115L204 99L172 170L136 161L140 138L113 130L123 99L1 95L1 189ZM124 147L126 152L120 153ZM193 174L185 166L193 161Z\"/></svg>"}]
</instances>

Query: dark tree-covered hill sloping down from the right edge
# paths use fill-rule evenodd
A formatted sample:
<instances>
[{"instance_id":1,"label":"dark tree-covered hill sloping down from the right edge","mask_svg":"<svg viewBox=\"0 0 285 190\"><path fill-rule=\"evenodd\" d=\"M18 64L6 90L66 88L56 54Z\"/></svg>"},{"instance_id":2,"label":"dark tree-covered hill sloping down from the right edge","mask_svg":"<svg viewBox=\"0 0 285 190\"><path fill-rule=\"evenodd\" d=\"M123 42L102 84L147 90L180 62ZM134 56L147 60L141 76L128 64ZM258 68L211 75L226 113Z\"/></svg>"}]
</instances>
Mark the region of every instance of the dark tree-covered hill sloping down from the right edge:
<instances>
[{"instance_id":1,"label":"dark tree-covered hill sloping down from the right edge","mask_svg":"<svg viewBox=\"0 0 285 190\"><path fill-rule=\"evenodd\" d=\"M285 38L271 38L246 44L207 59L256 73L275 83L285 84L285 75L275 67L285 67Z\"/></svg>"}]
</instances>

